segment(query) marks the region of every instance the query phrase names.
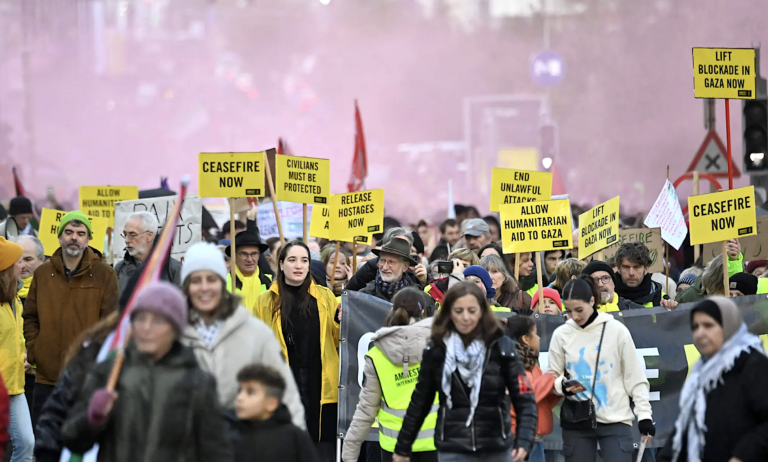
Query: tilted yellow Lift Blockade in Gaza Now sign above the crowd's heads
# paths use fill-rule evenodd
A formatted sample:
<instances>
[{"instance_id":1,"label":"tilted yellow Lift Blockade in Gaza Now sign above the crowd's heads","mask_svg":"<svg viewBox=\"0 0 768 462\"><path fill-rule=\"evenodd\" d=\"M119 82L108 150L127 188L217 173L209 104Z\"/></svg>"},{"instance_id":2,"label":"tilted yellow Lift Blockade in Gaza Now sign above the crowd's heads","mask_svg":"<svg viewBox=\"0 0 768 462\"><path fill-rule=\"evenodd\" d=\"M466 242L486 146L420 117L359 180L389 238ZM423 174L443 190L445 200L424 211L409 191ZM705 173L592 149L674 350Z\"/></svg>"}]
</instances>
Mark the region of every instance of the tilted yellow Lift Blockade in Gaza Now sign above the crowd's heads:
<instances>
[{"instance_id":1,"label":"tilted yellow Lift Blockade in Gaza Now sign above the crowd's heads","mask_svg":"<svg viewBox=\"0 0 768 462\"><path fill-rule=\"evenodd\" d=\"M579 215L579 258L584 259L619 238L619 196Z\"/></svg>"}]
</instances>

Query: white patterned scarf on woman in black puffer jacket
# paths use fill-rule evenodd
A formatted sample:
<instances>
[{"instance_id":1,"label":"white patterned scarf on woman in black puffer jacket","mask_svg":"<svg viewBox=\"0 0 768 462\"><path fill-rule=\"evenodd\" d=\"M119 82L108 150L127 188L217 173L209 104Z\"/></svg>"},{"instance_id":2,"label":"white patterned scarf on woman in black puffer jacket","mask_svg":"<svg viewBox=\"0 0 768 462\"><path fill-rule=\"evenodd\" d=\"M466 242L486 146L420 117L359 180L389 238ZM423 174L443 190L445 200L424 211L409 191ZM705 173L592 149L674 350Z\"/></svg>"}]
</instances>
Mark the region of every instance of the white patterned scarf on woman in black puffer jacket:
<instances>
[{"instance_id":1,"label":"white patterned scarf on woman in black puffer jacket","mask_svg":"<svg viewBox=\"0 0 768 462\"><path fill-rule=\"evenodd\" d=\"M448 404L448 409L453 409L451 401L451 377L453 371L459 370L459 375L469 387L469 418L467 427L475 416L477 402L480 398L480 383L483 380L483 365L485 364L485 342L480 339L472 340L468 348L464 348L461 336L449 333L445 342L445 364L443 365L443 393Z\"/></svg>"}]
</instances>

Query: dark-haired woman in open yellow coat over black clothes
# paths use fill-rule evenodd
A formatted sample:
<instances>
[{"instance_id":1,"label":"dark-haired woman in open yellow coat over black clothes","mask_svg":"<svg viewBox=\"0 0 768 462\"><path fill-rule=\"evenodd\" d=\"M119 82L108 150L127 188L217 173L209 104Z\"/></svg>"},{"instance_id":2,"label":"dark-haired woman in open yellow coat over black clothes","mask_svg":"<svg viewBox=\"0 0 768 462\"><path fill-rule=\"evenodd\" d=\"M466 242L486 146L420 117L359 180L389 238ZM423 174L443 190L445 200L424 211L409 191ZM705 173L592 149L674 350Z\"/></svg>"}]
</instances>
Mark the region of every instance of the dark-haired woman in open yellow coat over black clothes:
<instances>
[{"instance_id":1,"label":"dark-haired woman in open yellow coat over black clothes","mask_svg":"<svg viewBox=\"0 0 768 462\"><path fill-rule=\"evenodd\" d=\"M309 248L285 244L272 287L259 295L255 315L277 337L296 379L307 431L322 461L336 458L339 401L339 318L336 297L310 275Z\"/></svg>"}]
</instances>

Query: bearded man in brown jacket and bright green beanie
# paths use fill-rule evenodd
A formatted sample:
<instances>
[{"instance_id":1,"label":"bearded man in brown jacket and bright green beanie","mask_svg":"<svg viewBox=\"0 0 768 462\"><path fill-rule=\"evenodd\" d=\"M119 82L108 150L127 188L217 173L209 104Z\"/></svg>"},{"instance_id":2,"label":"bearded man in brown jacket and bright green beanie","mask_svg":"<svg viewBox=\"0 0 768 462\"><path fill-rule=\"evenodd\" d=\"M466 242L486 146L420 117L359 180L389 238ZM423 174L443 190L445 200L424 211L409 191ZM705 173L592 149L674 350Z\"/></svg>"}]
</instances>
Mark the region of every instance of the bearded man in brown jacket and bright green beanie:
<instances>
[{"instance_id":1,"label":"bearded man in brown jacket and bright green beanie","mask_svg":"<svg viewBox=\"0 0 768 462\"><path fill-rule=\"evenodd\" d=\"M36 366L32 425L53 391L72 343L117 309L117 275L101 253L88 246L91 222L69 212L58 227L61 247L40 265L24 305L27 361Z\"/></svg>"}]
</instances>

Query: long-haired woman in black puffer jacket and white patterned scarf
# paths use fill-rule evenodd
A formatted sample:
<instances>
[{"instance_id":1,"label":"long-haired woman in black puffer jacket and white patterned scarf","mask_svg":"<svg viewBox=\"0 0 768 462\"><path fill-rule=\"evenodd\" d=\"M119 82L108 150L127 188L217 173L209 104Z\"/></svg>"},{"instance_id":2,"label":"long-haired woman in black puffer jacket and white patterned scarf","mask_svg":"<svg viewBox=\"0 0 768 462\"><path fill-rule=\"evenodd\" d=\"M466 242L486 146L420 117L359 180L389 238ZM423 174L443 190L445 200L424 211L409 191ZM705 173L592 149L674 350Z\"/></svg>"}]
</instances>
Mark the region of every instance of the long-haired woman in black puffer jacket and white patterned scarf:
<instances>
[{"instance_id":1,"label":"long-haired woman in black puffer jacket and white patterned scarf","mask_svg":"<svg viewBox=\"0 0 768 462\"><path fill-rule=\"evenodd\" d=\"M394 462L410 457L435 393L440 408L434 441L441 462L521 462L528 456L537 424L533 390L514 340L504 335L476 284L461 282L448 290L435 316ZM510 399L517 412L514 436Z\"/></svg>"}]
</instances>

